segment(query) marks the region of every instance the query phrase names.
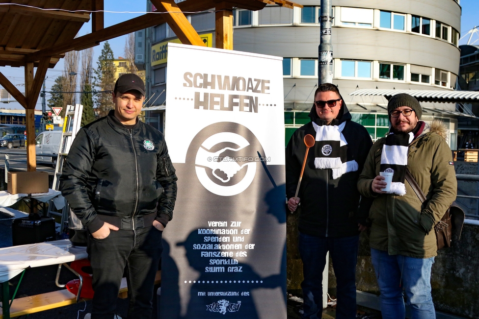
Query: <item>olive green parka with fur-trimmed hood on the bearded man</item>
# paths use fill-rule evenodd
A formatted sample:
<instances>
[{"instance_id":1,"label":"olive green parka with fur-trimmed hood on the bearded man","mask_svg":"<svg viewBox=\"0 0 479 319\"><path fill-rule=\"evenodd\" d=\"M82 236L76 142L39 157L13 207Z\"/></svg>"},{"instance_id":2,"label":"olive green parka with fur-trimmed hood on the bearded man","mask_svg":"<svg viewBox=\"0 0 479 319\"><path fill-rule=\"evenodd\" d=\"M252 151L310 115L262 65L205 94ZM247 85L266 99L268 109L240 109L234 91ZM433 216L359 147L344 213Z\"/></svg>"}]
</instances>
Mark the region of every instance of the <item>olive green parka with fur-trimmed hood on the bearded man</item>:
<instances>
[{"instance_id":1,"label":"olive green parka with fur-trimmed hood on the bearded man","mask_svg":"<svg viewBox=\"0 0 479 319\"><path fill-rule=\"evenodd\" d=\"M428 132L409 144L407 168L426 195L424 203L407 180L404 181L404 196L372 191L373 179L379 175L384 142L385 138L382 138L374 143L358 180L361 195L374 197L369 212L372 222L370 245L388 251L390 255L436 256L436 235L431 230L457 193L452 153L446 143L446 127L440 121L433 121Z\"/></svg>"}]
</instances>

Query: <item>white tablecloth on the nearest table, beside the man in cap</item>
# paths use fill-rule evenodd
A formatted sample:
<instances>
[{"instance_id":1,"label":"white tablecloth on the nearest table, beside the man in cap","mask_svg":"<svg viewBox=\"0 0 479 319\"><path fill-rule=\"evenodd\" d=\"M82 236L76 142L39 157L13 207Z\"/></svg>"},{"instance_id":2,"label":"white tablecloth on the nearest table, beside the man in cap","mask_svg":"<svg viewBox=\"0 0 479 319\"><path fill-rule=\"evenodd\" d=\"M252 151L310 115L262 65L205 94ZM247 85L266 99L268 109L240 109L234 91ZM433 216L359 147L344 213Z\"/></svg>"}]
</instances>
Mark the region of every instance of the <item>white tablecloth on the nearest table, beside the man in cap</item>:
<instances>
[{"instance_id":1,"label":"white tablecloth on the nearest table, beside the man in cap","mask_svg":"<svg viewBox=\"0 0 479 319\"><path fill-rule=\"evenodd\" d=\"M29 267L58 265L87 257L86 247L73 246L68 239L0 248L0 283Z\"/></svg>"}]
</instances>

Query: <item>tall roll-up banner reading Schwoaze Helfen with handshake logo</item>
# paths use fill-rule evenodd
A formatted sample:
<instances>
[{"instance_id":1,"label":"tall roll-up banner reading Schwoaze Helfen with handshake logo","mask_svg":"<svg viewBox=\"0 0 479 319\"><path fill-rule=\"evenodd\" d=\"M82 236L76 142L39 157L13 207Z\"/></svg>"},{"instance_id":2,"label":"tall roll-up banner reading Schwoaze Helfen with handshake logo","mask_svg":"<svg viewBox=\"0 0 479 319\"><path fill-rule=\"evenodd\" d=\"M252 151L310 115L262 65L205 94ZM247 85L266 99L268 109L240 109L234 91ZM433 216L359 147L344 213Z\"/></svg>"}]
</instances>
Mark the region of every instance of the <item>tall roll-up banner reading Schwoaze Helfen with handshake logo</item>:
<instances>
[{"instance_id":1,"label":"tall roll-up banner reading Schwoaze Helfen with handshake logo","mask_svg":"<svg viewBox=\"0 0 479 319\"><path fill-rule=\"evenodd\" d=\"M168 44L161 318L286 319L282 58Z\"/></svg>"}]
</instances>

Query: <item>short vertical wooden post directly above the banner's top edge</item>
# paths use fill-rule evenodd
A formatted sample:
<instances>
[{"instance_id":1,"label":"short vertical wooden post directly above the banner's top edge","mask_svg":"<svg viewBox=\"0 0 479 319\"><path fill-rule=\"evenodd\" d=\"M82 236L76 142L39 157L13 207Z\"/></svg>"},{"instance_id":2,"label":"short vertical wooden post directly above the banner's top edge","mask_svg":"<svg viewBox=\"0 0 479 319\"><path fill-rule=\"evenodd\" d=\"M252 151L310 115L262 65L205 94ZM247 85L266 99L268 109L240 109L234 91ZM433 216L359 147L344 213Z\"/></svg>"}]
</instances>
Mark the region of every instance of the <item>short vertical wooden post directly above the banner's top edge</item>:
<instances>
[{"instance_id":1,"label":"short vertical wooden post directly above the banner's top edge","mask_svg":"<svg viewBox=\"0 0 479 319\"><path fill-rule=\"evenodd\" d=\"M215 30L216 48L233 49L233 7L227 2L216 4Z\"/></svg>"}]
</instances>

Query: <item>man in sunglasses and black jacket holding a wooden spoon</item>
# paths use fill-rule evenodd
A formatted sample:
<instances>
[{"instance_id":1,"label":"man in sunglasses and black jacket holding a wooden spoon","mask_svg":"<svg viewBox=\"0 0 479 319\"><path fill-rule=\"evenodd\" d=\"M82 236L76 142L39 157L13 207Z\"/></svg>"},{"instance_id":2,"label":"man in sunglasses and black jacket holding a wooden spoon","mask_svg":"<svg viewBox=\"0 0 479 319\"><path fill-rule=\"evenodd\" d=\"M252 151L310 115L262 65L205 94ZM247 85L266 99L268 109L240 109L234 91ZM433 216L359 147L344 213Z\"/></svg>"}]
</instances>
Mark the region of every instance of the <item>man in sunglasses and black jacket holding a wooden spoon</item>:
<instances>
[{"instance_id":1,"label":"man in sunglasses and black jacket holding a wooden spoon","mask_svg":"<svg viewBox=\"0 0 479 319\"><path fill-rule=\"evenodd\" d=\"M322 313L322 272L329 251L337 279L337 319L356 318L356 261L359 232L366 229L369 201L360 200L356 184L371 137L351 121L338 88L324 83L315 92L311 122L298 128L286 147L288 209L299 211L299 252L303 261L303 319ZM315 137L306 159L298 196L295 191L306 146Z\"/></svg>"}]
</instances>

